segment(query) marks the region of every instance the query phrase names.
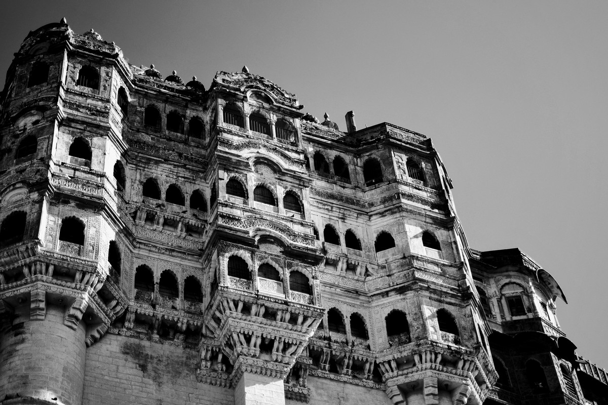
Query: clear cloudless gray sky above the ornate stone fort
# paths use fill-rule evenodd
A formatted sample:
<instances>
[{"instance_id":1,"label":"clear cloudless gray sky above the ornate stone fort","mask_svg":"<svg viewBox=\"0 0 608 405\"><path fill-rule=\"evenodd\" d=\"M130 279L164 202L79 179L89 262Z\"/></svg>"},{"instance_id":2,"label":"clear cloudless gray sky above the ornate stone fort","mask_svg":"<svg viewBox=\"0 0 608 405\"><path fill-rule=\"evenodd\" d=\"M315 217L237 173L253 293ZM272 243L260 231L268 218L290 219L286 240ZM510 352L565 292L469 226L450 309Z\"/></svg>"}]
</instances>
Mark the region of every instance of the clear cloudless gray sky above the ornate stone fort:
<instances>
[{"instance_id":1,"label":"clear cloudless gray sky above the ornate stone fort","mask_svg":"<svg viewBox=\"0 0 608 405\"><path fill-rule=\"evenodd\" d=\"M14 1L0 80L29 30L65 16L131 63L209 87L262 75L345 128L433 138L479 250L519 247L561 284L563 330L608 367L608 2Z\"/></svg>"}]
</instances>

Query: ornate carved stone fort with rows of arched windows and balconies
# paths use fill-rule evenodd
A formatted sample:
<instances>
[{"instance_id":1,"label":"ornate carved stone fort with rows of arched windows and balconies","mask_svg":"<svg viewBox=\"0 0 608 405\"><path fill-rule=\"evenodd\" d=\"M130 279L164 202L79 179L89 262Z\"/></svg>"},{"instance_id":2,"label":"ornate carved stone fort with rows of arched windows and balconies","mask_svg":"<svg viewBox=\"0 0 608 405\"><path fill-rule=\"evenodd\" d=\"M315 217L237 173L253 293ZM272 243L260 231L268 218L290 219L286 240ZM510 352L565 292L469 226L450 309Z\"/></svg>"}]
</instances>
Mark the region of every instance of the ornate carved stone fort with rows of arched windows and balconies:
<instances>
[{"instance_id":1,"label":"ornate carved stone fort with rows of arched windows and balconies","mask_svg":"<svg viewBox=\"0 0 608 405\"><path fill-rule=\"evenodd\" d=\"M0 404L608 403L553 277L469 247L425 135L65 20L0 103Z\"/></svg>"}]
</instances>

